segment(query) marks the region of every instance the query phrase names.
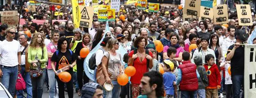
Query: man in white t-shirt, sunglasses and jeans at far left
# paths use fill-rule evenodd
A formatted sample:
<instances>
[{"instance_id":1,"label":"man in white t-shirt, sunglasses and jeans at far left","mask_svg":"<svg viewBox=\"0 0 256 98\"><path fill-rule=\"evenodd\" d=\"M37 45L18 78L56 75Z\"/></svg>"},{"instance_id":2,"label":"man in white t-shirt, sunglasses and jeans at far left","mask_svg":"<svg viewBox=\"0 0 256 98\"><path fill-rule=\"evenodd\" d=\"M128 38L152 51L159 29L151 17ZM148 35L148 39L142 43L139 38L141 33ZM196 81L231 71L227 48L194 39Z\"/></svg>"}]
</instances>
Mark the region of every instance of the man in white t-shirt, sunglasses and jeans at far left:
<instances>
[{"instance_id":1,"label":"man in white t-shirt, sunglasses and jeans at far left","mask_svg":"<svg viewBox=\"0 0 256 98\"><path fill-rule=\"evenodd\" d=\"M0 44L0 54L2 57L0 77L2 77L2 84L11 96L14 97L18 67L19 69L21 68L21 46L17 40L14 40L15 27L7 28L6 32L7 39Z\"/></svg>"}]
</instances>

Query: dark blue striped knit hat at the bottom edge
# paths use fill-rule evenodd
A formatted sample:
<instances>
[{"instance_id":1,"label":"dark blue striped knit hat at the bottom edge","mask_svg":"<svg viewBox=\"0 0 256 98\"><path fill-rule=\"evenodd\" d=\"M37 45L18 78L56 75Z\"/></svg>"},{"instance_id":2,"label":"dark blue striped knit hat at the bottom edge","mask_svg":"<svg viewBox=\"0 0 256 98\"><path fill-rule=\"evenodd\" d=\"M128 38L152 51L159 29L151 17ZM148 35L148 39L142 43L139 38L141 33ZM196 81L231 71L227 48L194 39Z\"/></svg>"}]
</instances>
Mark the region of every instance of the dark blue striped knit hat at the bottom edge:
<instances>
[{"instance_id":1,"label":"dark blue striped knit hat at the bottom edge","mask_svg":"<svg viewBox=\"0 0 256 98\"><path fill-rule=\"evenodd\" d=\"M94 83L94 82L86 83L82 87L82 90L81 90L82 97L81 98L91 98L92 96L94 96L94 93L95 93L98 85L99 85L98 83Z\"/></svg>"}]
</instances>

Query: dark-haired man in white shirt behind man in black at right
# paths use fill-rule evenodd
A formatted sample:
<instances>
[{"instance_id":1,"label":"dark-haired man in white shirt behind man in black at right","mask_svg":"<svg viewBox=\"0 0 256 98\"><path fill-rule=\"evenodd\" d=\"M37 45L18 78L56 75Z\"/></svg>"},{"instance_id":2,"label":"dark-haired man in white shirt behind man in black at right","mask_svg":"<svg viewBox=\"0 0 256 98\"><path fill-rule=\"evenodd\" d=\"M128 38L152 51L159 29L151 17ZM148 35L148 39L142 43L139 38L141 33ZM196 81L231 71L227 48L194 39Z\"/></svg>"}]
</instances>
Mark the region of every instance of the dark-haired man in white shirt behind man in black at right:
<instances>
[{"instance_id":1,"label":"dark-haired man in white shirt behind man in black at right","mask_svg":"<svg viewBox=\"0 0 256 98\"><path fill-rule=\"evenodd\" d=\"M235 27L234 26L229 26L228 27L228 33L229 37L227 37L223 42L222 42L222 55L225 57L225 54L227 53L229 47L233 44L235 44Z\"/></svg>"}]
</instances>

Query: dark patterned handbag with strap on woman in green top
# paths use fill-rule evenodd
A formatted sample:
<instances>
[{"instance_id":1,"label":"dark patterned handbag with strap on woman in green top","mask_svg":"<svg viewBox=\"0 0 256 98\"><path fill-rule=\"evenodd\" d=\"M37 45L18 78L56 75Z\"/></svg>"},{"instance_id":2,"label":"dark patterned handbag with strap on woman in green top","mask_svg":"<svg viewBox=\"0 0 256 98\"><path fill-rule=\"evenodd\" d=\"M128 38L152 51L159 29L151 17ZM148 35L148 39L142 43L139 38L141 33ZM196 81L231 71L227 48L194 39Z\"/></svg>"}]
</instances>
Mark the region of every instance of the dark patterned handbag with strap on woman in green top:
<instances>
[{"instance_id":1,"label":"dark patterned handbag with strap on woman in green top","mask_svg":"<svg viewBox=\"0 0 256 98\"><path fill-rule=\"evenodd\" d=\"M42 48L42 58L43 58L43 48ZM37 78L43 74L43 71L41 69L41 64L37 69L31 69L30 67L30 77L31 78Z\"/></svg>"}]
</instances>

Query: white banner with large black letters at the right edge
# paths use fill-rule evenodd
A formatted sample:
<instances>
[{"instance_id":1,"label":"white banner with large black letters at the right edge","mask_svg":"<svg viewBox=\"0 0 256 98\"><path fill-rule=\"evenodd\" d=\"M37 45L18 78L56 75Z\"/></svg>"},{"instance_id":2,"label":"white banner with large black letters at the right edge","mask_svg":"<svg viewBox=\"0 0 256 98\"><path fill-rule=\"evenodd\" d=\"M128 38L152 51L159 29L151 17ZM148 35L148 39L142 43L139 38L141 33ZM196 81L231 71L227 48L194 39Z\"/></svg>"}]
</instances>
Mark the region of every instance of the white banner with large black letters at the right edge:
<instances>
[{"instance_id":1,"label":"white banner with large black letters at the right edge","mask_svg":"<svg viewBox=\"0 0 256 98\"><path fill-rule=\"evenodd\" d=\"M232 65L231 65L232 66ZM231 73L232 74L232 73ZM245 45L244 98L256 96L256 45Z\"/></svg>"}]
</instances>

